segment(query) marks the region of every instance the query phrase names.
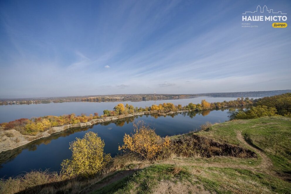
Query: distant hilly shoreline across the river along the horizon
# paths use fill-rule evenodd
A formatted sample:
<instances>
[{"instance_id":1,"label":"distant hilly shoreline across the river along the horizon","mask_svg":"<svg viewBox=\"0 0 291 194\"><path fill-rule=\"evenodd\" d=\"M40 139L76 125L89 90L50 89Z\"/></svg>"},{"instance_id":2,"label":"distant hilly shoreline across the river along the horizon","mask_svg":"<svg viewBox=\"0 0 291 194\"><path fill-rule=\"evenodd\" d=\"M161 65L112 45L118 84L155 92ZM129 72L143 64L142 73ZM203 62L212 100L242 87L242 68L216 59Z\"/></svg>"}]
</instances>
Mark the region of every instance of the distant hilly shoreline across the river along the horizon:
<instances>
[{"instance_id":1,"label":"distant hilly shoreline across the river along the horizon","mask_svg":"<svg viewBox=\"0 0 291 194\"><path fill-rule=\"evenodd\" d=\"M140 101L159 101L176 100L196 97L214 97L214 98L241 98L255 97L262 98L266 96L275 96L283 93L291 93L291 90L273 90L273 91L247 91L247 92L219 92L219 93L198 93L198 94L112 94L95 96L59 96L42 98L0 98L0 105L12 104L43 104L43 103L62 103L62 102L140 102Z\"/></svg>"}]
</instances>

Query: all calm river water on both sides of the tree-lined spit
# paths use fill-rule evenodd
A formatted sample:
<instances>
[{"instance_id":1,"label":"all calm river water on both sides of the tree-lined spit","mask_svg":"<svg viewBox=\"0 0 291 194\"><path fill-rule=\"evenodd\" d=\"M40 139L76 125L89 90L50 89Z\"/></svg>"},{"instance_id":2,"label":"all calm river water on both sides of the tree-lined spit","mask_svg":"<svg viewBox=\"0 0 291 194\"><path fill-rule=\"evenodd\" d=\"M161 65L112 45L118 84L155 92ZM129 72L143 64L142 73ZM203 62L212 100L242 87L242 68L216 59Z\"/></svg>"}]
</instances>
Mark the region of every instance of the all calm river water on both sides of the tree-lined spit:
<instances>
[{"instance_id":1,"label":"all calm river water on both sides of the tree-lined spit","mask_svg":"<svg viewBox=\"0 0 291 194\"><path fill-rule=\"evenodd\" d=\"M172 102L186 105L190 102L200 103L201 99L209 102L232 100L227 98L191 98L180 100L157 101L157 103ZM153 101L123 102L134 106L150 106ZM8 105L0 106L1 121L10 121L18 118L30 118L42 115L62 115L68 113L102 113L104 109L112 109L118 102L112 103L50 103L36 105ZM97 110L97 111L96 111ZM104 151L115 156L118 153L118 145L122 144L125 133L133 131L132 122L143 120L156 129L156 133L162 137L177 135L199 129L200 125L209 122L224 122L228 110L206 110L202 112L176 113L174 115L157 116L142 115L135 118L124 118L113 122L94 125L91 128L71 129L63 133L52 135L46 139L40 139L26 146L0 154L0 178L16 176L33 169L50 169L59 171L64 159L71 157L69 142L76 137L82 138L88 131L97 132L105 142ZM5 117L3 118L2 115ZM9 115L9 116L8 116Z\"/></svg>"}]
</instances>

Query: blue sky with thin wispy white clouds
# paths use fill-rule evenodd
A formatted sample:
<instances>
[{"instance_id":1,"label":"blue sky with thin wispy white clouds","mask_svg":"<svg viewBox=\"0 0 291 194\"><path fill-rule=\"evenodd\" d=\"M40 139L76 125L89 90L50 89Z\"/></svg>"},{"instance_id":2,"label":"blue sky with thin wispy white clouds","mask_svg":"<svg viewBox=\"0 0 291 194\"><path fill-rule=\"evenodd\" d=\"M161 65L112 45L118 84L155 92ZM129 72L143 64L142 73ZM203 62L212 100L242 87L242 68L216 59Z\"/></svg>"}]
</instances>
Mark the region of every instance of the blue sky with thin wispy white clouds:
<instances>
[{"instance_id":1,"label":"blue sky with thin wispy white clouds","mask_svg":"<svg viewBox=\"0 0 291 194\"><path fill-rule=\"evenodd\" d=\"M291 89L291 1L0 1L0 98Z\"/></svg>"}]
</instances>

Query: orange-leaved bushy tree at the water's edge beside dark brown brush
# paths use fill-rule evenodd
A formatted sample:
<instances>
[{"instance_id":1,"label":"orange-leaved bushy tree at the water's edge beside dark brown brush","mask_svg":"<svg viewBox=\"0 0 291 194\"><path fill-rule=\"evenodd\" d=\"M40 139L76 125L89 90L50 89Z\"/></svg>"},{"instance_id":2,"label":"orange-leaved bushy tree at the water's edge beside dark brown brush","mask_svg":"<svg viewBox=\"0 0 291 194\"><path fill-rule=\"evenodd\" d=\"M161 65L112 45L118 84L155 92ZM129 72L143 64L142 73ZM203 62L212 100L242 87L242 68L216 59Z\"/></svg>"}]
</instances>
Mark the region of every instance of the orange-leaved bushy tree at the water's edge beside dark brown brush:
<instances>
[{"instance_id":1,"label":"orange-leaved bushy tree at the water's edge beside dark brown brush","mask_svg":"<svg viewBox=\"0 0 291 194\"><path fill-rule=\"evenodd\" d=\"M159 152L169 147L170 139L156 135L155 131L146 126L144 122L134 123L133 127L135 133L125 134L124 144L121 147L118 146L118 150L128 150L140 154L144 159L153 160Z\"/></svg>"}]
</instances>

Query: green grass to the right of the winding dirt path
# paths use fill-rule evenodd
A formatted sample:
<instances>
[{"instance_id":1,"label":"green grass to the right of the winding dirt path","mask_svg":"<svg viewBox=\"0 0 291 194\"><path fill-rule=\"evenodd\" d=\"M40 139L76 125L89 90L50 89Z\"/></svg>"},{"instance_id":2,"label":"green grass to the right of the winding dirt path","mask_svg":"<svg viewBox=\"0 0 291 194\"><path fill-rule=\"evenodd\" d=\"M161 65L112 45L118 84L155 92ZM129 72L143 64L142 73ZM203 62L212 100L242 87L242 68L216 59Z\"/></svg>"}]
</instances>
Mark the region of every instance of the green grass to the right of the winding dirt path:
<instances>
[{"instance_id":1,"label":"green grass to the right of the winding dirt path","mask_svg":"<svg viewBox=\"0 0 291 194\"><path fill-rule=\"evenodd\" d=\"M253 126L242 130L242 135L267 154L276 171L291 174L291 119L263 117L250 121Z\"/></svg>"}]
</instances>

